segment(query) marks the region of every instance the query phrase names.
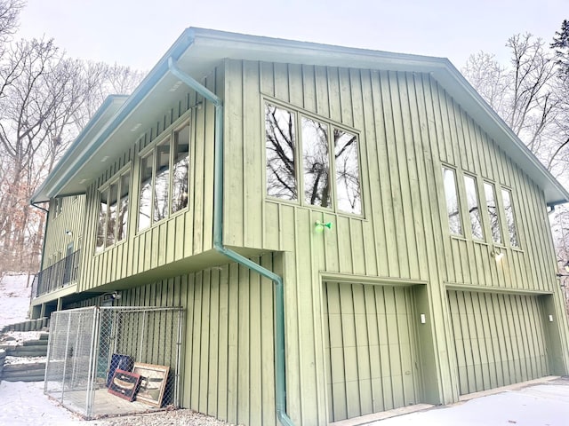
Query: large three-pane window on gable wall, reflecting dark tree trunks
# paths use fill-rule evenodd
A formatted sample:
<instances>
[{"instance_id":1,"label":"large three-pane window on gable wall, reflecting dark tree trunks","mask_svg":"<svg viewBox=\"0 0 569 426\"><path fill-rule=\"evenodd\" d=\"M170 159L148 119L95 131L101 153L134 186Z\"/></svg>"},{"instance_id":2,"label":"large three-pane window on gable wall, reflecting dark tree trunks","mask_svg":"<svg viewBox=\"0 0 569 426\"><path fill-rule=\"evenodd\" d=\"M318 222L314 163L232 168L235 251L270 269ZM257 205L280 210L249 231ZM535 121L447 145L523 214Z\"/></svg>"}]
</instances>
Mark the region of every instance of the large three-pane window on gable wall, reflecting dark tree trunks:
<instances>
[{"instance_id":1,"label":"large three-pane window on gable wall, reflecting dark tree trunks","mask_svg":"<svg viewBox=\"0 0 569 426\"><path fill-rule=\"evenodd\" d=\"M268 196L362 213L356 132L267 102L265 150Z\"/></svg>"}]
</instances>

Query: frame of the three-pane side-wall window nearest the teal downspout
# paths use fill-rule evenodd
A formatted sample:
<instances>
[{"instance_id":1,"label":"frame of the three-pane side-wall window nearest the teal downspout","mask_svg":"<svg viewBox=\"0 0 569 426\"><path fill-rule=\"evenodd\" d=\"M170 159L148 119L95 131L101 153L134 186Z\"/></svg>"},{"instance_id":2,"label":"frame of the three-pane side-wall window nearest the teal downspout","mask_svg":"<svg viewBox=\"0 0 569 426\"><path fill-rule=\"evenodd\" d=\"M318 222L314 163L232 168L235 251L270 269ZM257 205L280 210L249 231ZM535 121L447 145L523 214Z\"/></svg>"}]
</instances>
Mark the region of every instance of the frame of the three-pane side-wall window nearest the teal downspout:
<instances>
[{"instance_id":1,"label":"frame of the three-pane side-wall window nearest the teal downspout","mask_svg":"<svg viewBox=\"0 0 569 426\"><path fill-rule=\"evenodd\" d=\"M133 212L134 214L136 214L136 225L135 225L135 233L139 234L139 233L145 233L147 232L149 229L152 229L154 226L158 225L158 224L162 224L164 223L164 220L168 220L172 217L176 217L180 214L183 214L185 212L188 211L189 209L189 200L190 200L190 194L189 192L191 191L191 172L192 172L192 143L193 143L193 137L192 137L192 130L194 130L194 126L193 126L193 122L192 122L192 114L191 114L191 109L188 110L188 112L186 112L185 114L182 114L180 116L180 118L178 118L175 122L172 122L172 124L170 126L168 126L166 129L164 129L164 131L162 133L160 133L160 135L158 135L158 137L156 138L155 141L153 141L152 143L148 144L148 146L145 146L143 149L140 150L140 152L136 155L136 161L137 161L137 165L138 165L138 173L137 176L135 177L137 179L137 193L136 193L136 209ZM176 155L174 152L174 149L172 149L173 146L178 146L177 144L177 139L176 139L176 133L180 132L182 129L184 129L184 127L188 126L188 198L186 201L186 206L184 206L182 209L178 209L175 212L172 213L172 180L174 178L174 173L173 173L173 169L172 167L176 164L175 160L176 160ZM168 154L168 202L167 202L167 206L165 209L165 216L162 218L159 218L158 220L155 220L155 196L156 196L156 164L157 164L157 157L156 157L156 148L158 146L162 146L165 143L168 143L170 148L169 148L169 154ZM149 212L149 217L148 217L148 221L149 224L145 225L144 227L140 227L140 189L141 189L141 177L140 177L140 173L141 173L141 169L140 169L140 164L142 162L142 160L144 158L147 158L148 156L152 156L152 182L150 185L150 212Z\"/></svg>"}]
</instances>

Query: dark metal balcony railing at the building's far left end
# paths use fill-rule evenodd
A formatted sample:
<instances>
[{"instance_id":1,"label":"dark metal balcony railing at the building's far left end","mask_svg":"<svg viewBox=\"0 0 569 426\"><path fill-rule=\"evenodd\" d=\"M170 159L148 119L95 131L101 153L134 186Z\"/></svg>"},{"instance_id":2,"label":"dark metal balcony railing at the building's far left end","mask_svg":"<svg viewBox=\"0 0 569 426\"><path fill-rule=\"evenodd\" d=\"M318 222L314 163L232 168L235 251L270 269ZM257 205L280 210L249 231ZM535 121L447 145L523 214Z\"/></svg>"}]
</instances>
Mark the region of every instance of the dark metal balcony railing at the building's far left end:
<instances>
[{"instance_id":1,"label":"dark metal balcony railing at the building's far left end","mask_svg":"<svg viewBox=\"0 0 569 426\"><path fill-rule=\"evenodd\" d=\"M76 282L79 275L81 250L61 259L43 271L37 272L32 283L32 297L43 296Z\"/></svg>"}]
</instances>

